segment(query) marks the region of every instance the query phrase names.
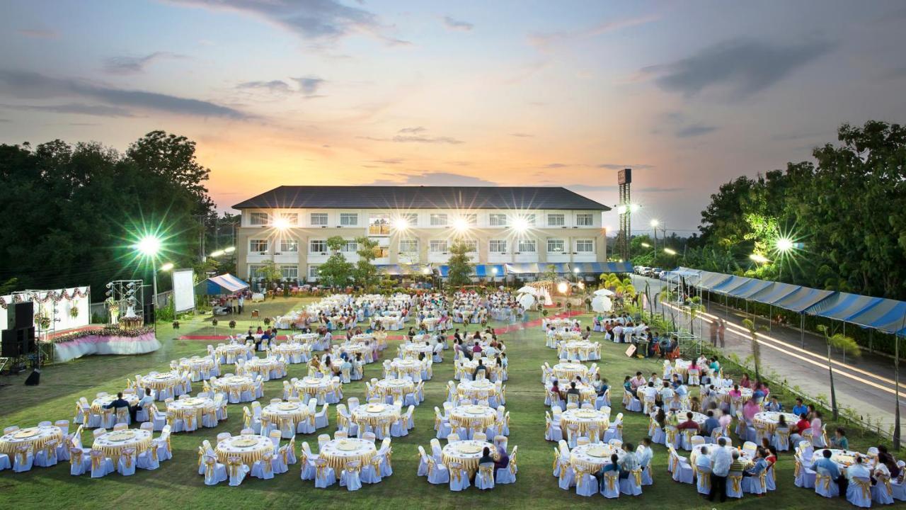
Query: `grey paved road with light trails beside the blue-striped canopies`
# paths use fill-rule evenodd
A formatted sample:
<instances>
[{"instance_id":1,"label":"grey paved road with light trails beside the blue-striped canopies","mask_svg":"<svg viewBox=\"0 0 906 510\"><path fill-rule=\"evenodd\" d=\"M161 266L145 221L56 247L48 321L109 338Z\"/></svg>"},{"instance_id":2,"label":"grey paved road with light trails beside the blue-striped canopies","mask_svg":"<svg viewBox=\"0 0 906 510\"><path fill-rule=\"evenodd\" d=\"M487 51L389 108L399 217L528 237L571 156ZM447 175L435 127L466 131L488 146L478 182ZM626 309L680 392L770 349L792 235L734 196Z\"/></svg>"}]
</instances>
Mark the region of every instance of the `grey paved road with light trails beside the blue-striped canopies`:
<instances>
[{"instance_id":1,"label":"grey paved road with light trails beside the blue-striped canopies","mask_svg":"<svg viewBox=\"0 0 906 510\"><path fill-rule=\"evenodd\" d=\"M633 276L636 289L644 291L646 284L652 299L666 282ZM736 353L739 358L751 355L751 340L747 329L742 327L743 319L751 319L744 312L725 309L714 302L703 303L707 311L696 319L696 333L705 331L705 341L709 341L709 329L712 320L727 321L726 346L728 353ZM655 311L666 313L670 317L670 306L655 303ZM677 322L689 328L689 318L674 307ZM681 321L681 322L680 322ZM765 318L757 319L758 326L769 326ZM767 370L773 370L786 378L790 386L798 386L806 395L830 396L827 368L827 351L824 339L811 333L805 333L805 343L798 329L772 326L770 331L759 335L761 344L761 364ZM865 352L862 358L844 358L843 353L832 353L834 360L834 387L837 402L841 406L853 407L866 419L875 423L882 421L882 429L887 430L894 423L893 361ZM906 397L906 378L900 377L900 401ZM901 407L901 412L903 408ZM830 432L829 432L830 433ZM902 436L901 437L906 437Z\"/></svg>"}]
</instances>

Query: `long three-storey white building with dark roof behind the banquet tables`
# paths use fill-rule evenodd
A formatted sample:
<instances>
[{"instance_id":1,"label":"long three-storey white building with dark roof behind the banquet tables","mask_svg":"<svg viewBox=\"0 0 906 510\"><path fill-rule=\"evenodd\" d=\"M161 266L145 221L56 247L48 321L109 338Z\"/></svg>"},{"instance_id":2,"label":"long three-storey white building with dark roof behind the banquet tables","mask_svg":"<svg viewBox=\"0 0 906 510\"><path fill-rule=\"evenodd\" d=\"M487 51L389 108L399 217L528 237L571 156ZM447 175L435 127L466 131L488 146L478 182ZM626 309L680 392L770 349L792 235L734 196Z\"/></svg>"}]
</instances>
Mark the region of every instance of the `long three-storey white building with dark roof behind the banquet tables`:
<instances>
[{"instance_id":1,"label":"long three-storey white building with dark roof behind the banquet tables","mask_svg":"<svg viewBox=\"0 0 906 510\"><path fill-rule=\"evenodd\" d=\"M558 272L601 272L607 259L602 212L610 208L555 187L281 186L234 206L237 276L257 280L273 260L284 280L317 281L341 236L346 260L355 241L379 245L374 264L390 274L446 275L449 247L471 247L480 277L529 276L554 264ZM496 271L496 272L495 272Z\"/></svg>"}]
</instances>

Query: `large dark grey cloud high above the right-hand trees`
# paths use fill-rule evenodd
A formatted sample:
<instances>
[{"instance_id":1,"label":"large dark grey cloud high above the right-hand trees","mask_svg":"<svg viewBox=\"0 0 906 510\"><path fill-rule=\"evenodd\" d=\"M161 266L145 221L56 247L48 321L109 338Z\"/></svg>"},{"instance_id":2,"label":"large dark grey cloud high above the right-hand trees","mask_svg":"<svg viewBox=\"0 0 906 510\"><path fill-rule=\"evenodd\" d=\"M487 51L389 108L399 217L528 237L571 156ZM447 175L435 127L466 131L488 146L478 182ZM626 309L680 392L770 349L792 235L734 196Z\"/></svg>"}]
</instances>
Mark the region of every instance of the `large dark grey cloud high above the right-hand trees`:
<instances>
[{"instance_id":1,"label":"large dark grey cloud high above the right-hand trees","mask_svg":"<svg viewBox=\"0 0 906 510\"><path fill-rule=\"evenodd\" d=\"M779 82L836 44L813 41L768 44L753 39L733 39L715 44L670 64L642 69L668 92L692 96L705 89L727 89L737 98L747 97Z\"/></svg>"}]
</instances>

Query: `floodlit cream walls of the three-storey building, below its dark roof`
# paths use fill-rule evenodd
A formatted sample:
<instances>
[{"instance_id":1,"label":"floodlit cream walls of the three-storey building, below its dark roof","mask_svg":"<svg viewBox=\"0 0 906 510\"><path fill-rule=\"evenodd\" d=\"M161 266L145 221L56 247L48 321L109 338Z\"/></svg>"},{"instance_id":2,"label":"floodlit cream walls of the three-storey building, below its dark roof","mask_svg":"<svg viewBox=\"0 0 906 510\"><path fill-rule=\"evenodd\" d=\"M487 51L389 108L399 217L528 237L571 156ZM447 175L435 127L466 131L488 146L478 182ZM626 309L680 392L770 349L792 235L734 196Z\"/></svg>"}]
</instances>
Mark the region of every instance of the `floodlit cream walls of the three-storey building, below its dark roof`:
<instances>
[{"instance_id":1,"label":"floodlit cream walls of the three-storey building, below its dark roof","mask_svg":"<svg viewBox=\"0 0 906 510\"><path fill-rule=\"evenodd\" d=\"M255 215L254 213L259 213ZM265 214L261 215L261 214ZM312 214L326 214L326 225L313 224L323 221L324 216L313 217ZM357 225L342 225L341 214L357 214ZM404 227L400 219L404 214L407 217ZM446 214L446 225L432 225L431 215ZM283 268L298 268L298 280L313 279L309 277L309 269L323 263L329 257L328 250L311 250L313 240L327 240L333 236L341 236L347 240L368 236L378 240L381 247L386 248L386 257L374 260L375 264L410 264L433 263L445 264L449 258L446 251L430 250L431 240L447 241L447 247L457 240L474 240L477 245L472 260L476 263L507 263L507 262L594 262L607 260L607 240L602 229L601 211L467 211L465 214L475 214L474 224L472 219L454 210L419 210L419 211L381 211L381 210L246 210L242 214L241 226L237 230L236 270L240 278L250 278L250 270L263 264L267 260L274 260ZM505 214L506 226L492 225L495 221L492 214ZM534 214L534 225L531 215ZM580 217L578 215L591 214ZM548 215L554 215L550 217ZM563 224L559 222L562 220ZM285 220L283 230L274 226L275 218ZM350 222L351 216L344 216ZM442 217L436 216L434 222L439 222ZM497 217L499 219L499 217ZM581 219L580 219L581 218ZM370 220L386 221L386 225L369 227ZM552 222L553 221L553 222ZM578 224L580 222L591 224ZM263 224L257 224L263 223ZM464 228L463 228L464 227ZM522 228L525 227L525 228ZM564 251L548 251L548 239L562 240ZM264 251L251 250L252 241L266 241ZM285 246L281 240L295 241L298 250L282 250L293 248L292 243ZM400 240L417 240L418 250L403 251L400 249ZM506 241L506 251L491 251L491 240ZM535 240L535 251L519 250L519 240ZM587 249L588 240L593 243L593 250L579 251L579 241L584 240L583 247ZM257 244L257 243L256 243ZM528 248L524 246L524 248ZM358 260L355 250L344 252L346 260ZM292 277L292 270L285 275Z\"/></svg>"}]
</instances>

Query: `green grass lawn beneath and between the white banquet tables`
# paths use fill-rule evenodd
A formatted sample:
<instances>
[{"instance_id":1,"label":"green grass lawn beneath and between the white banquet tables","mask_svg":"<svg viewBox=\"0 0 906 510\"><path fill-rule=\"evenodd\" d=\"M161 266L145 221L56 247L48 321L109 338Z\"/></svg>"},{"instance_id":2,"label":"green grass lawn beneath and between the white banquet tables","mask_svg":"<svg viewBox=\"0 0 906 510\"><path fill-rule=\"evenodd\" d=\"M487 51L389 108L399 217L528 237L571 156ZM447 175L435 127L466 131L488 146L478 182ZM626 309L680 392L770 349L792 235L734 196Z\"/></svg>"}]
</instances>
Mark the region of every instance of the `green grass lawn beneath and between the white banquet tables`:
<instances>
[{"instance_id":1,"label":"green grass lawn beneath and between the white banquet tables","mask_svg":"<svg viewBox=\"0 0 906 510\"><path fill-rule=\"evenodd\" d=\"M262 316L273 316L288 309L299 308L300 299L275 299L266 303L246 306L244 317L238 318L237 332L245 331L252 322L250 311L260 309ZM251 303L249 304L251 305ZM533 314L533 319L535 314ZM217 334L226 334L229 317L220 318ZM588 317L583 318L589 322ZM503 324L494 323L500 327ZM474 328L474 326L473 326ZM162 344L157 352L141 356L95 356L77 359L69 363L48 367L43 370L41 385L24 387L25 374L14 378L3 378L10 384L0 388L0 426L34 426L38 421L49 419L72 419L72 409L78 397L92 396L98 391L116 392L125 386L126 378L145 374L149 370L169 369L169 360L194 354L203 354L207 340L179 340L180 335L210 335L214 330L207 321L183 321L182 328L174 331L169 325L159 326L158 337ZM602 340L601 333L596 338ZM445 398L445 384L453 378L452 355L448 351L444 363L435 365L434 378L425 386L426 400L416 408L416 427L409 436L393 438L393 476L385 478L378 485L364 485L358 492L349 493L345 487L333 485L329 489L315 489L312 481L299 478L299 465L291 466L284 475L273 480L258 480L248 477L239 487L221 484L213 487L204 485L198 476L197 450L204 439L216 442L220 432L237 434L242 428L242 405L229 407L229 419L217 428L200 428L192 434L180 433L172 436L174 458L162 463L156 471L138 470L135 476L123 477L117 474L92 479L89 476L70 476L68 462L61 462L52 468L34 468L31 472L14 474L12 470L0 473L0 501L6 508L62 508L64 506L86 506L92 510L106 508L358 508L376 510L382 508L454 508L473 505L487 505L492 508L591 508L601 505L631 508L634 505L666 508L710 508L694 485L674 483L666 471L667 450L654 446L654 484L644 487L644 494L632 498L622 496L617 500L605 500L603 496L585 498L574 491L558 488L552 476L554 443L545 442L544 387L541 384L540 365L545 361L552 365L556 351L545 347L540 327L516 330L501 336L506 342L509 362L509 380L506 383L506 408L512 419L509 446L519 446L519 474L515 485L498 485L492 491L478 491L471 487L463 493L454 493L445 485L429 485L425 478L416 476L418 467L417 446L428 446L434 436L435 406L440 407ZM399 341L390 341L383 358L392 358ZM620 387L622 378L641 370L645 374L660 371L656 361L629 359L622 355L624 348L603 342L602 375L615 386L612 398L613 416L622 412ZM290 365L289 377L304 377L304 365ZM381 363L366 366L365 378L381 377ZM194 389L200 391L200 383ZM267 402L282 394L283 380L265 383ZM693 390L694 391L694 390ZM360 397L364 400L364 384L356 381L344 385L345 397ZM785 399L790 407L792 402ZM245 404L248 405L248 404ZM331 426L317 434L335 430L335 412L330 410ZM647 434L648 418L641 413L626 413L623 437L625 441L638 444ZM828 424L828 430L833 430ZM308 441L317 450L317 434L296 436L296 442ZM850 446L864 451L871 446L870 436L851 435ZM91 445L91 433L83 435L86 446ZM734 441L737 438L734 437ZM719 505L727 508L806 508L821 505L825 508L851 508L845 500L825 500L813 491L793 485L794 463L790 453L781 453L777 465L777 491L757 498L747 495L736 502Z\"/></svg>"}]
</instances>

